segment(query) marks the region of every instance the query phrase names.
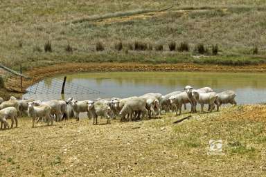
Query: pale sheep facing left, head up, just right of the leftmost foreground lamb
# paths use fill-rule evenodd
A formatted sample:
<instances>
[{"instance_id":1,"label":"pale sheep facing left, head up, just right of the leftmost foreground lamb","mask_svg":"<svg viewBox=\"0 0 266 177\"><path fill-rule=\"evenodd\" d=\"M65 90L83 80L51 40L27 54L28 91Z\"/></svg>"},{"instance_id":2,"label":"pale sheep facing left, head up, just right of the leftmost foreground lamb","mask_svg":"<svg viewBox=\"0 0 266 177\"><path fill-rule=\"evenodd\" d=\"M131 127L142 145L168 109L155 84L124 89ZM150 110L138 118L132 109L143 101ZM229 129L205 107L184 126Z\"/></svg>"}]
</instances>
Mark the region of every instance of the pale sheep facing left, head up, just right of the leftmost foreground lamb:
<instances>
[{"instance_id":1,"label":"pale sheep facing left, head up, just right of the leftmost foreground lamb","mask_svg":"<svg viewBox=\"0 0 266 177\"><path fill-rule=\"evenodd\" d=\"M51 122L53 125L53 118L51 115L51 107L47 104L41 104L39 106L33 106L33 102L28 103L28 116L33 118L33 127L36 118L46 118L47 125Z\"/></svg>"}]
</instances>

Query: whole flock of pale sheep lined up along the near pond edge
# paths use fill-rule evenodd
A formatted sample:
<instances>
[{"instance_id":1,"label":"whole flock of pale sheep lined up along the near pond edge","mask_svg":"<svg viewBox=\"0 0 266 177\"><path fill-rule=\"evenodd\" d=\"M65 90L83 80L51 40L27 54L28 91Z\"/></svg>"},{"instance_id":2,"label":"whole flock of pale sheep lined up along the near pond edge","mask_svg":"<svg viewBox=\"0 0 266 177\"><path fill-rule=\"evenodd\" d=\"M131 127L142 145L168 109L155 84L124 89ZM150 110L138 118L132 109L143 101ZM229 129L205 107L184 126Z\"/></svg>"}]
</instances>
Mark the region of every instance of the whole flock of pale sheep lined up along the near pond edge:
<instances>
[{"instance_id":1,"label":"whole flock of pale sheep lined up along the near pond edge","mask_svg":"<svg viewBox=\"0 0 266 177\"><path fill-rule=\"evenodd\" d=\"M191 86L186 86L184 91L175 91L167 95L161 93L147 93L139 97L127 97L112 99L98 98L94 101L74 100L70 97L65 100L50 100L42 102L39 100L17 100L11 96L10 100L3 101L0 97L0 121L1 129L10 128L7 120L10 119L12 124L15 122L17 127L17 117L26 113L35 122L43 120L53 124L53 120L60 121L67 118L76 118L79 120L80 113L87 113L88 118L94 119L94 124L98 124L98 117L107 118L107 124L110 119L120 117L121 121L141 120L145 116L160 116L161 112L175 111L176 115L181 114L181 106L190 104L191 113L195 113L197 104L200 104L201 111L204 109L204 104L209 105L209 111L215 109L217 111L221 104L235 104L236 93L234 91L223 91L215 93L212 88L204 87L193 89ZM68 106L69 105L69 106ZM69 107L69 108L68 108ZM68 109L67 109L68 108ZM178 113L179 112L179 113ZM4 127L3 127L4 126Z\"/></svg>"}]
</instances>

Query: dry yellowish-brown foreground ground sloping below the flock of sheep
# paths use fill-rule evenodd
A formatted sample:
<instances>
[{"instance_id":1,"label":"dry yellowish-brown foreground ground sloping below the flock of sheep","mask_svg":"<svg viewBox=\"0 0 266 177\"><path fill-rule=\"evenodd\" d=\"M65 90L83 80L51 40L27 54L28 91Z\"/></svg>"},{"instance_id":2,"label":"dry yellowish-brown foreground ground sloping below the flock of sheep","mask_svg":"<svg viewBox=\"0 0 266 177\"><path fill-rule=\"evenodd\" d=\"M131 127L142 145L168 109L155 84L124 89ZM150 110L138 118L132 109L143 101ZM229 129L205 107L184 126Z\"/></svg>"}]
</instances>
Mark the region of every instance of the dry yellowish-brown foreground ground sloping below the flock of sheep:
<instances>
[{"instance_id":1,"label":"dry yellowish-brown foreground ground sloping below the flock of sheep","mask_svg":"<svg viewBox=\"0 0 266 177\"><path fill-rule=\"evenodd\" d=\"M99 125L82 119L0 133L0 176L263 176L266 106ZM209 140L223 140L210 155Z\"/></svg>"}]
</instances>

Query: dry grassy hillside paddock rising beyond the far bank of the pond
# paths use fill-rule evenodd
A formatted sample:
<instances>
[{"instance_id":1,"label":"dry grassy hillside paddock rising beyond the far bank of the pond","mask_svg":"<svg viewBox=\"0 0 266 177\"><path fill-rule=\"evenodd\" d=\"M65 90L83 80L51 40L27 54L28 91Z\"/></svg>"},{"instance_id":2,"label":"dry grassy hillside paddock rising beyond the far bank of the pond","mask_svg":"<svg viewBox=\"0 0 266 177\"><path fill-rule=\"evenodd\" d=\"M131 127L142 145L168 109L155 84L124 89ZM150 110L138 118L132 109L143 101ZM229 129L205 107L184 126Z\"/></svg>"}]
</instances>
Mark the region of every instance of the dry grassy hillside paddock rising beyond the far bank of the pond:
<instances>
[{"instance_id":1,"label":"dry grassy hillside paddock rising beyond the far bank of the pond","mask_svg":"<svg viewBox=\"0 0 266 177\"><path fill-rule=\"evenodd\" d=\"M263 63L266 54L264 1L67 1L63 5L26 0L1 5L0 61L9 67L107 61L245 65ZM45 52L47 41L51 52ZM104 50L96 51L99 41ZM121 51L114 48L117 41L123 43ZM147 44L148 51L132 53L127 44L134 46L134 41ZM177 44L172 53L170 42ZM189 45L188 52L178 50L181 43ZM71 49L66 49L69 44ZM163 50L156 50L158 44ZM208 49L204 55L211 55L211 46L218 44L218 55L194 61L197 44Z\"/></svg>"}]
</instances>

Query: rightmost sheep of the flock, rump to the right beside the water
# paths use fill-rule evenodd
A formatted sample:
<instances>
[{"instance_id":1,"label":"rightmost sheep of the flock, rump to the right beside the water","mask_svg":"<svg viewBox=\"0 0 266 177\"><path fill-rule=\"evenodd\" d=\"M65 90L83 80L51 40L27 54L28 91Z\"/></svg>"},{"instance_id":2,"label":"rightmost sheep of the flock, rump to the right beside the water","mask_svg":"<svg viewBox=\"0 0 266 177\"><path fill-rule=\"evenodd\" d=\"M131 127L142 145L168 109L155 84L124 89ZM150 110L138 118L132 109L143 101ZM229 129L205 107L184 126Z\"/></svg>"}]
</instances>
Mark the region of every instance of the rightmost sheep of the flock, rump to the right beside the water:
<instances>
[{"instance_id":1,"label":"rightmost sheep of the flock, rump to the right beside the water","mask_svg":"<svg viewBox=\"0 0 266 177\"><path fill-rule=\"evenodd\" d=\"M217 100L215 100L215 104L217 105L217 111L219 111L219 107L222 104L234 104L236 105L236 93L234 91L223 91L217 94Z\"/></svg>"}]
</instances>

